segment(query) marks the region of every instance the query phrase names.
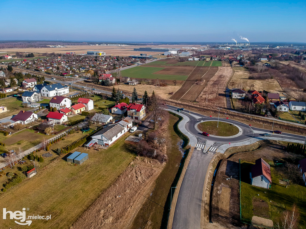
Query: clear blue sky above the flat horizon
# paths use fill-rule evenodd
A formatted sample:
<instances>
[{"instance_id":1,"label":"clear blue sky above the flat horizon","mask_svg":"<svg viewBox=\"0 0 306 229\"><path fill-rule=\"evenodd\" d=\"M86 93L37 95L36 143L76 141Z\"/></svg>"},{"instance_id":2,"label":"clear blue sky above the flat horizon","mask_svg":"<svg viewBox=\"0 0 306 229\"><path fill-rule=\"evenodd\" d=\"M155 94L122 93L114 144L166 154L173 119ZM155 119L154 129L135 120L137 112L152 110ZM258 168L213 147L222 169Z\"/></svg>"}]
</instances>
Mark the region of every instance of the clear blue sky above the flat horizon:
<instances>
[{"instance_id":1,"label":"clear blue sky above the flat horizon","mask_svg":"<svg viewBox=\"0 0 306 229\"><path fill-rule=\"evenodd\" d=\"M306 42L305 1L0 2L0 40Z\"/></svg>"}]
</instances>

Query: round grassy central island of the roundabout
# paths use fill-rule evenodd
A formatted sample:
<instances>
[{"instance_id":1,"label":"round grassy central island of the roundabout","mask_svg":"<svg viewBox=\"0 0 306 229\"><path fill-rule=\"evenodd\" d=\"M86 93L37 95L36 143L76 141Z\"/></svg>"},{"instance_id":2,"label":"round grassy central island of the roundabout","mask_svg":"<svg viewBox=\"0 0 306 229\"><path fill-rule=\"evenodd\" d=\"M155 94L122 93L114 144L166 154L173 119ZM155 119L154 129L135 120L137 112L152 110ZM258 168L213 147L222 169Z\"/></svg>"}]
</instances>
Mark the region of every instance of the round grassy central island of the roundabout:
<instances>
[{"instance_id":1,"label":"round grassy central island of the roundabout","mask_svg":"<svg viewBox=\"0 0 306 229\"><path fill-rule=\"evenodd\" d=\"M233 136L239 133L239 129L237 128L237 126L234 126L230 123L219 122L218 128L217 124L217 121L201 122L198 124L198 128L202 132L206 132L210 135L216 136Z\"/></svg>"}]
</instances>

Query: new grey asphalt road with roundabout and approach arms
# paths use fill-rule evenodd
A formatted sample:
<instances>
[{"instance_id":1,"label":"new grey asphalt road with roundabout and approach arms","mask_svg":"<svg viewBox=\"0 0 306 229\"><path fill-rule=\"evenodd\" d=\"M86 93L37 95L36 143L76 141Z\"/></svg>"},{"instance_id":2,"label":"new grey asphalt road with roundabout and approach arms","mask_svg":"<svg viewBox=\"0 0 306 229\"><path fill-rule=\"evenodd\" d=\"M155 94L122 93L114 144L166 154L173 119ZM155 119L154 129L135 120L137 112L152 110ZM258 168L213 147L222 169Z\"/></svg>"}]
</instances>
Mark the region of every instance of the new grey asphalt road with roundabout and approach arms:
<instances>
[{"instance_id":1,"label":"new grey asphalt road with roundabout and approach arms","mask_svg":"<svg viewBox=\"0 0 306 229\"><path fill-rule=\"evenodd\" d=\"M173 112L177 112L178 107L167 106L168 109ZM173 229L200 229L201 228L201 206L202 206L202 194L205 182L205 176L209 166L209 162L216 153L216 149L224 151L232 145L246 145L249 142L256 142L263 139L277 139L285 141L293 141L304 143L305 136L282 133L276 134L272 131L254 128L244 123L220 118L219 121L230 122L236 125L240 129L240 133L234 137L217 137L217 136L203 136L196 128L196 125L201 121L217 121L218 117L207 117L195 112L181 111L180 113L186 115L190 120L185 124L185 130L188 133L194 135L197 138L197 143L194 145L195 150L190 158L185 176L182 180L182 184L177 197L177 202L174 210L174 217L172 222ZM263 136L264 133L270 133L271 137ZM223 147L222 147L223 146ZM226 146L226 147L224 147ZM210 185L210 184L207 184Z\"/></svg>"}]
</instances>

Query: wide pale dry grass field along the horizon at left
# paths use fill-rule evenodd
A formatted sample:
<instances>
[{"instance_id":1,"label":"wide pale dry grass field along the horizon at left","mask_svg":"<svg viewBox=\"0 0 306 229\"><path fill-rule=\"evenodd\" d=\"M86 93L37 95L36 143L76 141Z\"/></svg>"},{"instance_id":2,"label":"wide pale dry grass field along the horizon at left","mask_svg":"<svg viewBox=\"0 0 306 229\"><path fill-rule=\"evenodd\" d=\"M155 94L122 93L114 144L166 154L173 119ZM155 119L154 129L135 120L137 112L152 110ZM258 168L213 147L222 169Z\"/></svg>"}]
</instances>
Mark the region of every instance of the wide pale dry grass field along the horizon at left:
<instances>
[{"instance_id":1,"label":"wide pale dry grass field along the horizon at left","mask_svg":"<svg viewBox=\"0 0 306 229\"><path fill-rule=\"evenodd\" d=\"M193 45L196 46L196 45ZM199 46L199 45L198 45ZM107 45L69 45L67 48L15 48L15 49L0 49L0 52L9 53L69 53L76 52L77 54L87 53L87 51L103 51L107 56L129 56L129 55L140 55L140 53L133 51L134 48L140 47L152 47L152 48L181 48L182 45L141 45L141 46L107 46ZM158 55L163 54L163 52L145 52L147 55Z\"/></svg>"}]
</instances>

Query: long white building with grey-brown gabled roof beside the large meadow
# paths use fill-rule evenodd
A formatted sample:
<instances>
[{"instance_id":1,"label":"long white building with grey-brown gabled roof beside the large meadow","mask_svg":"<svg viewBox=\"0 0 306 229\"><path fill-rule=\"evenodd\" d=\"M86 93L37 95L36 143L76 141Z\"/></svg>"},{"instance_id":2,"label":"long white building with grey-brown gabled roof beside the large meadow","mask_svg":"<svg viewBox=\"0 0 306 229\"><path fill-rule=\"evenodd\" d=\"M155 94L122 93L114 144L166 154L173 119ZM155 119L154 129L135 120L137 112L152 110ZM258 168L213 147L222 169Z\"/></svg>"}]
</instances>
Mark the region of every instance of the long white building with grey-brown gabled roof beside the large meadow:
<instances>
[{"instance_id":1,"label":"long white building with grey-brown gabled roof beside the large meadow","mask_svg":"<svg viewBox=\"0 0 306 229\"><path fill-rule=\"evenodd\" d=\"M96 140L98 145L110 146L126 132L128 132L128 129L119 124L108 125L95 133L91 138Z\"/></svg>"}]
</instances>

